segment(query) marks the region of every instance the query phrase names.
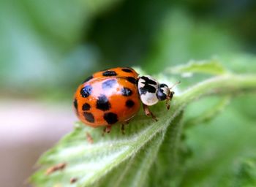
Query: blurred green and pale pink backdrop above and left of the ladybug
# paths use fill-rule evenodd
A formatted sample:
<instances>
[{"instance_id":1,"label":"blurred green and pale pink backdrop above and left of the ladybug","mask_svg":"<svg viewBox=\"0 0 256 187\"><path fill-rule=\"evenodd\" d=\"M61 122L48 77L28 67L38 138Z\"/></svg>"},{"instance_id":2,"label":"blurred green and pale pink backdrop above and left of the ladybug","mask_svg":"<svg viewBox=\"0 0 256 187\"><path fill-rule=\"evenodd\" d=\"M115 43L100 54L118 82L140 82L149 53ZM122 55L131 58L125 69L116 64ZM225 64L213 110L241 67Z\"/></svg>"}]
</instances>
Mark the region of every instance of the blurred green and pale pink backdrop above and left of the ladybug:
<instances>
[{"instance_id":1,"label":"blurred green and pale pink backdrop above and left of the ladybug","mask_svg":"<svg viewBox=\"0 0 256 187\"><path fill-rule=\"evenodd\" d=\"M1 181L22 183L72 129L72 95L91 72L140 66L157 74L205 58L255 72L255 18L254 0L1 0L0 148L1 164L11 164Z\"/></svg>"}]
</instances>

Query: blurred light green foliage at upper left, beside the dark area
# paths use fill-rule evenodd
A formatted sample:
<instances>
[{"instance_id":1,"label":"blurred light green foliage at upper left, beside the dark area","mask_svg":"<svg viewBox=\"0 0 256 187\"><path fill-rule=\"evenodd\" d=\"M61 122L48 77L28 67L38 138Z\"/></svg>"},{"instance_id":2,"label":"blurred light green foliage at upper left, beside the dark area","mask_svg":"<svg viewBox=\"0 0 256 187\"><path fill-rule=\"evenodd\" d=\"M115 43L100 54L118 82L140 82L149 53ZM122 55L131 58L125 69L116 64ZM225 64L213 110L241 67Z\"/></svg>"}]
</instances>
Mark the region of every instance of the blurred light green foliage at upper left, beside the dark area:
<instances>
[{"instance_id":1,"label":"blurred light green foliage at upper left, beside the dark area","mask_svg":"<svg viewBox=\"0 0 256 187\"><path fill-rule=\"evenodd\" d=\"M84 77L85 69L99 66L97 49L81 40L91 20L118 2L0 1L1 90L26 96L50 91L53 96L59 85L56 95L71 96L71 83Z\"/></svg>"}]
</instances>

